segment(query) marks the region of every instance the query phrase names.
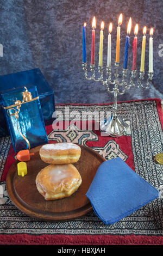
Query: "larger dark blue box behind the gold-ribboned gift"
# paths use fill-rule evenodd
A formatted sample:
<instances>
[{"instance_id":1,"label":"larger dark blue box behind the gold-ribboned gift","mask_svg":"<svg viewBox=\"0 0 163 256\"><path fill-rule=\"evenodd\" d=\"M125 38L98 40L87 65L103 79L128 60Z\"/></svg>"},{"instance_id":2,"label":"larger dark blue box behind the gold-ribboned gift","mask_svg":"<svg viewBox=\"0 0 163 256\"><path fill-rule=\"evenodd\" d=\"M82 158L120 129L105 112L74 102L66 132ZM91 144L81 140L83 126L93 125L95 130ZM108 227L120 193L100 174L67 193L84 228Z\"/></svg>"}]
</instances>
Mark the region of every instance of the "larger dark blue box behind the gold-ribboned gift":
<instances>
[{"instance_id":1,"label":"larger dark blue box behind the gold-ribboned gift","mask_svg":"<svg viewBox=\"0 0 163 256\"><path fill-rule=\"evenodd\" d=\"M37 87L45 124L52 124L52 114L55 111L54 93L40 69L31 69L0 76L0 94L22 86L28 88L31 84ZM1 101L0 105L2 105ZM2 107L0 106L0 137L6 135L8 135L7 124L4 119Z\"/></svg>"}]
</instances>

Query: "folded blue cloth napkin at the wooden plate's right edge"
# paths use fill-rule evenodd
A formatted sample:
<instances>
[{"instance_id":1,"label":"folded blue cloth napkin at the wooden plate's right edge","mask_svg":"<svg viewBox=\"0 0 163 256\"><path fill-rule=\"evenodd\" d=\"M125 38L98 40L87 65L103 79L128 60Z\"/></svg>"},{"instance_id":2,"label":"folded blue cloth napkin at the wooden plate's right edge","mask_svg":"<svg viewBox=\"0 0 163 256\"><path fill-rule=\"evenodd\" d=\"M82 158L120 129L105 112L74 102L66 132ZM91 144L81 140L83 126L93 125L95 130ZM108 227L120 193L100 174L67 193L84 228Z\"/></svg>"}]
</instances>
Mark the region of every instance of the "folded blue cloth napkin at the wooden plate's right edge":
<instances>
[{"instance_id":1,"label":"folded blue cloth napkin at the wooden plate's right edge","mask_svg":"<svg viewBox=\"0 0 163 256\"><path fill-rule=\"evenodd\" d=\"M113 224L158 198L159 191L117 157L99 166L86 196L95 214Z\"/></svg>"}]
</instances>

